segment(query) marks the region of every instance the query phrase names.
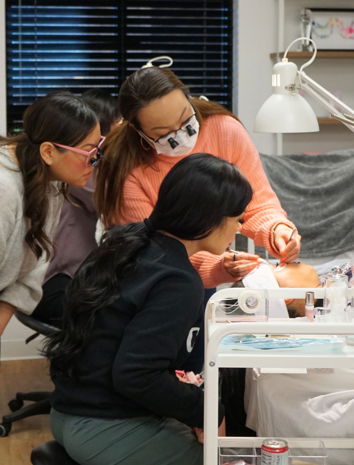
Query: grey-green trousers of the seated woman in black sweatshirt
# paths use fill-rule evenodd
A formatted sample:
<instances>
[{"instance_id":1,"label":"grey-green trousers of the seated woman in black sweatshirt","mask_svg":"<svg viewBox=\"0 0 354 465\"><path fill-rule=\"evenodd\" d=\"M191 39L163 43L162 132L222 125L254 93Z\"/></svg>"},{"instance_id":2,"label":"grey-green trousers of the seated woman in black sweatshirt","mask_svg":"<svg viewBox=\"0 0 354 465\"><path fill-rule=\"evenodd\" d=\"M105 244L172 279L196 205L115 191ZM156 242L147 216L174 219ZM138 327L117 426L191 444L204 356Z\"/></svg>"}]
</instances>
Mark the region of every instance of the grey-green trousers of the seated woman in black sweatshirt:
<instances>
[{"instance_id":1,"label":"grey-green trousers of the seated woman in black sweatshirt","mask_svg":"<svg viewBox=\"0 0 354 465\"><path fill-rule=\"evenodd\" d=\"M102 419L52 409L57 442L80 465L203 465L203 445L174 419Z\"/></svg>"}]
</instances>

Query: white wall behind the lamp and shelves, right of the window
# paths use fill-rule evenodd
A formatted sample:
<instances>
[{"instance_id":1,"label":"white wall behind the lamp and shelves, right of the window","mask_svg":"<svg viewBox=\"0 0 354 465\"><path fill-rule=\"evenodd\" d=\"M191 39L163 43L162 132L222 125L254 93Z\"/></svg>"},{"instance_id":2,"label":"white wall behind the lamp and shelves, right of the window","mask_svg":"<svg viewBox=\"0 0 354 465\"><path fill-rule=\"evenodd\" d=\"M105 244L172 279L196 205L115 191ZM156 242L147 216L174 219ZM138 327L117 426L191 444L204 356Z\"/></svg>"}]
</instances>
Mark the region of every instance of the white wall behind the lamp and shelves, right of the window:
<instances>
[{"instance_id":1,"label":"white wall behind the lamp and shelves, right of the window","mask_svg":"<svg viewBox=\"0 0 354 465\"><path fill-rule=\"evenodd\" d=\"M330 8L334 5L335 8L352 8L354 1L285 0L285 46L299 37L302 8ZM268 154L276 153L276 136L253 133L253 123L258 109L272 92L270 75L275 60L269 58L269 53L277 51L277 35L277 0L239 0L238 115L259 152ZM304 60L295 62L301 66ZM317 59L307 68L307 73L329 91L340 90L342 100L353 108L353 69L353 59ZM314 100L307 100L318 116L328 116ZM344 125L320 126L319 133L303 133L300 137L299 134L283 135L284 154L353 147L354 135Z\"/></svg>"}]
</instances>

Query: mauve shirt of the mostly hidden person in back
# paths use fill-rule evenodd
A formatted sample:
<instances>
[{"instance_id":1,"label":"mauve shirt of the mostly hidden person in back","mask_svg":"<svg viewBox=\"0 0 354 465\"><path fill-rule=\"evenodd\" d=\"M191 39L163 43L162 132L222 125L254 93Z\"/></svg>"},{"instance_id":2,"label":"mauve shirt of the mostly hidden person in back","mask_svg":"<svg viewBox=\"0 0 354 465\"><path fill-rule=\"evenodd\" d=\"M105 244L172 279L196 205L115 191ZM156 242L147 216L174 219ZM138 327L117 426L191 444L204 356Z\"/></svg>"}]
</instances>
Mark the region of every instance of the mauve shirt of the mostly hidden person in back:
<instances>
[{"instance_id":1,"label":"mauve shirt of the mostly hidden person in back","mask_svg":"<svg viewBox=\"0 0 354 465\"><path fill-rule=\"evenodd\" d=\"M97 247L97 214L92 201L93 192L91 178L84 187L69 188L69 197L79 206L64 202L54 234L56 255L48 267L44 283L59 273L72 278L87 255Z\"/></svg>"}]
</instances>

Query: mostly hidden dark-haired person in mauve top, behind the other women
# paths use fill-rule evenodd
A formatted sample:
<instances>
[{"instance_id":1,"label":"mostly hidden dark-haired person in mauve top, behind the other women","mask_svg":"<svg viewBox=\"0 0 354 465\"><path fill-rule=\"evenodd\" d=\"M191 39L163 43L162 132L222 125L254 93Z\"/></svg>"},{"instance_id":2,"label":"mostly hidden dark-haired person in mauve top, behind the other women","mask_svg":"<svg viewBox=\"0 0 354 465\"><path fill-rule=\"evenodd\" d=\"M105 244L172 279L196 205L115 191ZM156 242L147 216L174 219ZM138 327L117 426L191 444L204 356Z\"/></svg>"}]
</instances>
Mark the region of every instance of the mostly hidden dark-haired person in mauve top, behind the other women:
<instances>
[{"instance_id":1,"label":"mostly hidden dark-haired person in mauve top, behind the other women","mask_svg":"<svg viewBox=\"0 0 354 465\"><path fill-rule=\"evenodd\" d=\"M117 99L109 92L94 88L81 95L98 117L101 134L106 136L121 122ZM58 326L63 318L66 288L85 258L97 247L95 240L98 215L93 204L93 176L84 187L70 186L73 203L65 201L54 234L56 255L46 271L43 296L33 317Z\"/></svg>"}]
</instances>

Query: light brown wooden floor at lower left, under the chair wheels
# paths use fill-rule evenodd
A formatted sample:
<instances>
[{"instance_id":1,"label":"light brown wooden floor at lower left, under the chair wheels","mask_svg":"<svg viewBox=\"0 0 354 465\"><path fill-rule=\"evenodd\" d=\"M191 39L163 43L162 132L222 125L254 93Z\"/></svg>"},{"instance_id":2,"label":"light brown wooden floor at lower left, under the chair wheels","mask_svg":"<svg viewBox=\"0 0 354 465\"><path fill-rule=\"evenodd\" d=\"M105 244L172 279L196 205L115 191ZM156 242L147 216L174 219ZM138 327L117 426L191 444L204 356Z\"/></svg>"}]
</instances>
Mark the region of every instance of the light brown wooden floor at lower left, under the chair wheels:
<instances>
[{"instance_id":1,"label":"light brown wooden floor at lower left, under the chair wheels","mask_svg":"<svg viewBox=\"0 0 354 465\"><path fill-rule=\"evenodd\" d=\"M11 413L7 403L16 392L52 391L47 361L16 360L0 363L0 417ZM25 405L27 403L25 402ZM33 447L51 440L49 415L19 420L6 438L0 438L1 465L30 465Z\"/></svg>"}]
</instances>

